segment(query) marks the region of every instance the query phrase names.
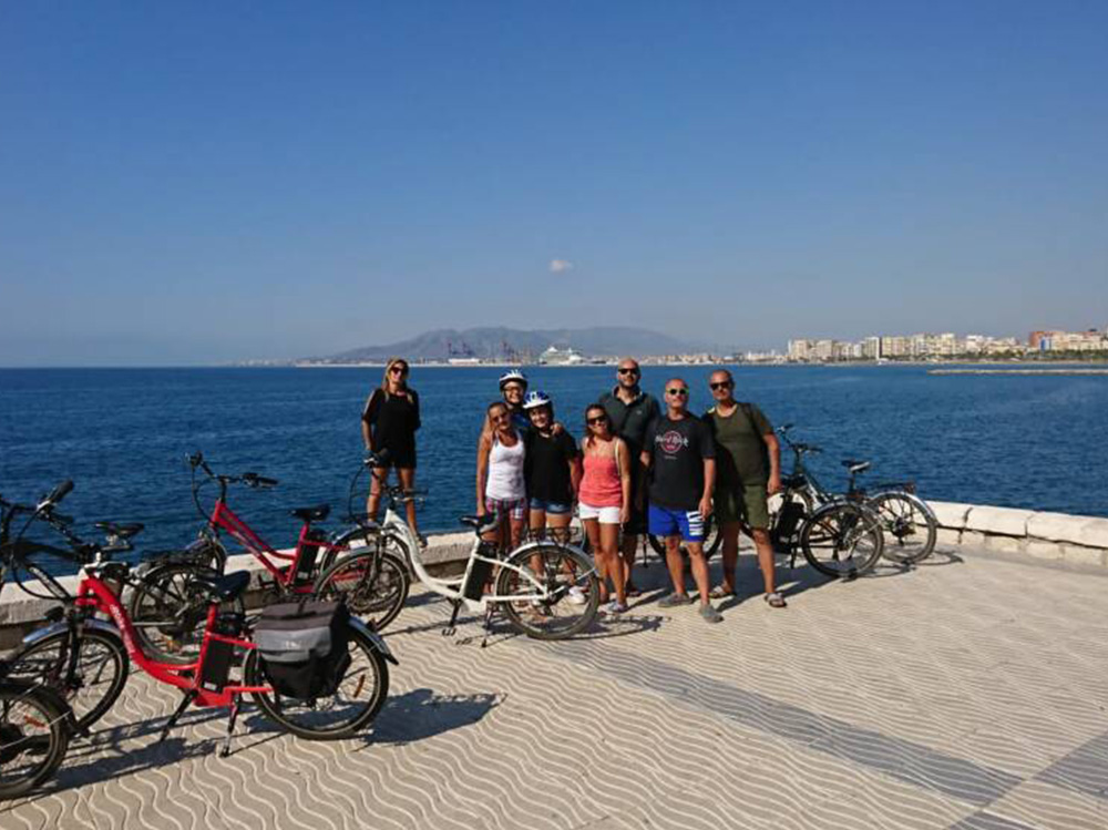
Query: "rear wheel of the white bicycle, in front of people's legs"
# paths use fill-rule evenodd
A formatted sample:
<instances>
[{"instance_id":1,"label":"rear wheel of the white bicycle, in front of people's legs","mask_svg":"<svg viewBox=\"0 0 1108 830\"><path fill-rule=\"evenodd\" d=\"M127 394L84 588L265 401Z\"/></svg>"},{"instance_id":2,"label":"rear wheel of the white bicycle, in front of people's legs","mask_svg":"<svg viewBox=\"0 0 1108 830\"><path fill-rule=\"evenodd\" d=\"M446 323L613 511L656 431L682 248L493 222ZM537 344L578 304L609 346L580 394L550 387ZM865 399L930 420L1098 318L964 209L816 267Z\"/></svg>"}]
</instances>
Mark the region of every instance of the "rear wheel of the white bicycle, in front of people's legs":
<instances>
[{"instance_id":1,"label":"rear wheel of the white bicycle, in front of people's legs","mask_svg":"<svg viewBox=\"0 0 1108 830\"><path fill-rule=\"evenodd\" d=\"M516 631L535 639L564 639L584 631L601 602L601 582L588 559L552 542L513 551L496 575L495 590L497 596L520 597L502 601L500 607Z\"/></svg>"}]
</instances>

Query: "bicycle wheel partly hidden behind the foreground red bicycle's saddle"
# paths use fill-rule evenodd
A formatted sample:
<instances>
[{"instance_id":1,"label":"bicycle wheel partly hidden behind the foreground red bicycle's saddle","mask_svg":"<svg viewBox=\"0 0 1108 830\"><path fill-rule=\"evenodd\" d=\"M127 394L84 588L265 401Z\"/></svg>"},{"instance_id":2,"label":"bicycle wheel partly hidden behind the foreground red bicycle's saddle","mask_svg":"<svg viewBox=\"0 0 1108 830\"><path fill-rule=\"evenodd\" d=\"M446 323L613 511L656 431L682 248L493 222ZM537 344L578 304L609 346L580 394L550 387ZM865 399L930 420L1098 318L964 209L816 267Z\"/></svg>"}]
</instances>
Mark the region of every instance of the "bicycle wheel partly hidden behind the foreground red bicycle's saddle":
<instances>
[{"instance_id":1,"label":"bicycle wheel partly hidden behind the foreground red bicycle's saddle","mask_svg":"<svg viewBox=\"0 0 1108 830\"><path fill-rule=\"evenodd\" d=\"M151 659L183 665L199 658L208 606L208 582L222 572L206 565L171 562L153 568L131 593L127 613L138 645ZM223 604L224 611L245 613L242 597Z\"/></svg>"}]
</instances>

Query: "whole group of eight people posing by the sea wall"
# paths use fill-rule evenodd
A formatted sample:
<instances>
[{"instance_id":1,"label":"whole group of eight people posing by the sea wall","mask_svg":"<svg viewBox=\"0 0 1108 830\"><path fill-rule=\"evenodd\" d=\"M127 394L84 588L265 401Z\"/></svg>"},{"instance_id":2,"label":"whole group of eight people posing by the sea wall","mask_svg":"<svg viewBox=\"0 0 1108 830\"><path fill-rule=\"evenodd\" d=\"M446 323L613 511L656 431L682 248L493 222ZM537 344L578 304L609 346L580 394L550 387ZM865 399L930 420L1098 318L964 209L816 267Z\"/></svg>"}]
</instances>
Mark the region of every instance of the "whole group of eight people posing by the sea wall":
<instances>
[{"instance_id":1,"label":"whole group of eight people posing by the sea wall","mask_svg":"<svg viewBox=\"0 0 1108 830\"><path fill-rule=\"evenodd\" d=\"M362 411L368 450L388 450L373 477L368 510L376 515L380 481L396 469L406 489L414 484L419 396L408 387L408 363L390 360L380 388ZM490 535L505 549L532 534L568 535L574 505L596 557L603 611L620 614L637 594L633 565L638 536L665 539L673 591L663 607L691 604L685 588L688 551L699 613L722 619L712 600L735 594L739 533L749 530L758 553L765 600L786 606L777 590L767 500L781 488L780 448L773 428L753 403L735 398L735 379L714 371L714 404L702 417L688 409L689 387L679 377L664 389L664 407L639 385L638 363L625 358L616 385L585 409L578 442L554 414L554 402L527 390L527 378L510 370L500 379L502 399L489 404L478 440L476 512L492 515ZM722 542L722 581L710 586L704 555L712 516ZM416 511L408 504L416 529ZM620 541L622 535L622 541ZM571 602L583 597L571 595Z\"/></svg>"}]
</instances>

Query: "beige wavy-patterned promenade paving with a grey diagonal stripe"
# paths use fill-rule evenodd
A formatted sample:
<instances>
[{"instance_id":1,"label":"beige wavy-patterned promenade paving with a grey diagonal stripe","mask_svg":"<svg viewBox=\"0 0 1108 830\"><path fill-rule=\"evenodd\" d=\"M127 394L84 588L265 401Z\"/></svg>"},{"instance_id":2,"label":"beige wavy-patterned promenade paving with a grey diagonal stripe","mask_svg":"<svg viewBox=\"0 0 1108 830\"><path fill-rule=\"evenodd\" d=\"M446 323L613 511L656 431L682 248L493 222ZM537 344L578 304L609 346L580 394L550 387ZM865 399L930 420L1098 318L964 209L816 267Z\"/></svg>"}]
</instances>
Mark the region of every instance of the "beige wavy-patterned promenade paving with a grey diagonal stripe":
<instances>
[{"instance_id":1,"label":"beige wavy-patterned promenade paving with a grey diagonal stripe","mask_svg":"<svg viewBox=\"0 0 1108 830\"><path fill-rule=\"evenodd\" d=\"M1108 828L1108 577L947 551L793 592L717 626L650 593L586 638L485 649L416 594L371 732L307 742L252 708L228 759L222 714L157 745L175 698L133 677L0 827Z\"/></svg>"}]
</instances>

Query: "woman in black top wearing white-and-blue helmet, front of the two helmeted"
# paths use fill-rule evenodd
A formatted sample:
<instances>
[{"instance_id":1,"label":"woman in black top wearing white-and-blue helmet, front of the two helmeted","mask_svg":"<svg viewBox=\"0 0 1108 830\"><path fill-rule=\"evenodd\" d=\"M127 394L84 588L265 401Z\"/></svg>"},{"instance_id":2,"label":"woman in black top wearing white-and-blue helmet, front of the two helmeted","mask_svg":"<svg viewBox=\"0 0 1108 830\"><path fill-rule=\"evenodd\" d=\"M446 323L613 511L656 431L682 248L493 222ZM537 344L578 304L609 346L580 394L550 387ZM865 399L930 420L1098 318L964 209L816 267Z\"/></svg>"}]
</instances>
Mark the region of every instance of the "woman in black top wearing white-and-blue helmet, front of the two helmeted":
<instances>
[{"instance_id":1,"label":"woman in black top wearing white-and-blue helmet, front of the two helmeted","mask_svg":"<svg viewBox=\"0 0 1108 830\"><path fill-rule=\"evenodd\" d=\"M527 484L531 532L565 539L581 482L581 453L573 436L555 430L554 402L546 392L527 394L523 408L531 420L524 433L524 479Z\"/></svg>"}]
</instances>

